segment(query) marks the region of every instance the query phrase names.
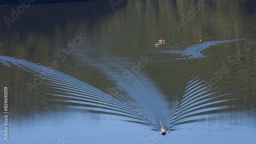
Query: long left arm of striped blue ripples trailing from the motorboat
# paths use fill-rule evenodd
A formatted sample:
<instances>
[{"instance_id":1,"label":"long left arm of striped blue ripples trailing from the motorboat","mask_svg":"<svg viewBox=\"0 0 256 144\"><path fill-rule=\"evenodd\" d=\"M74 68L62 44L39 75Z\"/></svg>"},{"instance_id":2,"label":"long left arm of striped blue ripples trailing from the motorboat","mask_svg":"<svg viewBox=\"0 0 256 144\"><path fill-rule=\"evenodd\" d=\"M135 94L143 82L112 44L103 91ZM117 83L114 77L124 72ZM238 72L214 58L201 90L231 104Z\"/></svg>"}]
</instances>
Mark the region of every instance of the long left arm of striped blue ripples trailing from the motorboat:
<instances>
[{"instance_id":1,"label":"long left arm of striped blue ripples trailing from the motorboat","mask_svg":"<svg viewBox=\"0 0 256 144\"><path fill-rule=\"evenodd\" d=\"M58 101L82 104L90 110L133 118L134 121L131 122L156 128L152 118L134 102L121 97L122 95L110 95L56 69L27 60L0 55L0 62L7 67L16 65L44 80L44 84L49 87L46 94L58 97Z\"/></svg>"}]
</instances>

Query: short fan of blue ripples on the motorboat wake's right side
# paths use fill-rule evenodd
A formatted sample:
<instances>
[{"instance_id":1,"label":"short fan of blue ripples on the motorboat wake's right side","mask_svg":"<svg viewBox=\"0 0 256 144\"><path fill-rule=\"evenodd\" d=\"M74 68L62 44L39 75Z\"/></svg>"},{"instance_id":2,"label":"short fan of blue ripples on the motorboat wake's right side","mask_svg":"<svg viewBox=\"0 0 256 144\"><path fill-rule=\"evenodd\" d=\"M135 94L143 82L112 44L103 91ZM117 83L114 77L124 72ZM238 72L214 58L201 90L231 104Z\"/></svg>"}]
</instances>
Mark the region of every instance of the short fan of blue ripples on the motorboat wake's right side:
<instances>
[{"instance_id":1,"label":"short fan of blue ripples on the motorboat wake's right side","mask_svg":"<svg viewBox=\"0 0 256 144\"><path fill-rule=\"evenodd\" d=\"M237 100L227 96L235 93L225 93L213 87L210 83L202 81L200 76L192 76L187 83L183 96L176 95L170 104L169 125L172 129L178 125L195 122L207 118L217 110L228 108L225 102Z\"/></svg>"}]
</instances>

